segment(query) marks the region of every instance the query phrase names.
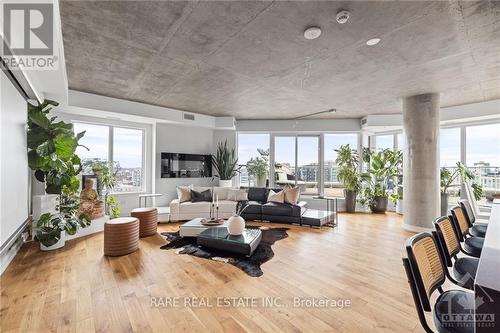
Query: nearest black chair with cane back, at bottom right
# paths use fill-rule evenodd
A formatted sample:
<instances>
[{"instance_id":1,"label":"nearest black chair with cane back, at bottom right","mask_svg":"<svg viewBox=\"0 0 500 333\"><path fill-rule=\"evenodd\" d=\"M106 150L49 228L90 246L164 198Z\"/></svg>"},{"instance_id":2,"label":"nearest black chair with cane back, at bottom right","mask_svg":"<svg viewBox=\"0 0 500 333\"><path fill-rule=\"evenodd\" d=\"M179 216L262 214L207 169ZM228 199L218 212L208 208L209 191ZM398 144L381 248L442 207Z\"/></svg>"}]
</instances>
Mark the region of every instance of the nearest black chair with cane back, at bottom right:
<instances>
[{"instance_id":1,"label":"nearest black chair with cane back, at bottom right","mask_svg":"<svg viewBox=\"0 0 500 333\"><path fill-rule=\"evenodd\" d=\"M427 312L432 313L434 326L440 333L473 333L474 293L443 290L445 267L433 236L427 232L417 234L406 241L405 247L407 258L403 258L403 265L424 330L433 332L425 318ZM436 290L439 296L431 306L431 296Z\"/></svg>"}]
</instances>

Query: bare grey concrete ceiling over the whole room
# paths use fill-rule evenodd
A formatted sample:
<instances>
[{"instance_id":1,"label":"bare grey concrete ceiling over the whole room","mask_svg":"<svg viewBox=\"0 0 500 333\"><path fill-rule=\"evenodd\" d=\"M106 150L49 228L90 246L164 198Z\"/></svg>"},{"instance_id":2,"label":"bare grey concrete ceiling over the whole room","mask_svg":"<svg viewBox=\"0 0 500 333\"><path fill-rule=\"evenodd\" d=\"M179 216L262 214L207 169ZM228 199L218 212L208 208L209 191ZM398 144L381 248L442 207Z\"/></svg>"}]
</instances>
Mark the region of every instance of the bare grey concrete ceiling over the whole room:
<instances>
[{"instance_id":1,"label":"bare grey concrete ceiling over the whole room","mask_svg":"<svg viewBox=\"0 0 500 333\"><path fill-rule=\"evenodd\" d=\"M500 2L61 1L70 89L281 119L399 113L500 98ZM339 9L351 12L339 25ZM309 25L322 28L306 40ZM382 41L373 47L365 42Z\"/></svg>"}]
</instances>

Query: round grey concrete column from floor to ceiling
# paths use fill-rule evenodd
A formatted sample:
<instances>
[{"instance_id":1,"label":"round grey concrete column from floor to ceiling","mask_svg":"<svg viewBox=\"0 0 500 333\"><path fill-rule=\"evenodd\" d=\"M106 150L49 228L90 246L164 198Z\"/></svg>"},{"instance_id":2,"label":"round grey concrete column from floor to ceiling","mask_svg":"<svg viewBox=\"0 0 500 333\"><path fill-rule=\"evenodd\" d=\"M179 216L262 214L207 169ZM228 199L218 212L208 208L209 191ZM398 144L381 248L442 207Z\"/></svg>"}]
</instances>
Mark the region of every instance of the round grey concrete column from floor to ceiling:
<instances>
[{"instance_id":1,"label":"round grey concrete column from floor to ceiling","mask_svg":"<svg viewBox=\"0 0 500 333\"><path fill-rule=\"evenodd\" d=\"M403 99L403 228L432 229L439 216L439 94Z\"/></svg>"}]
</instances>

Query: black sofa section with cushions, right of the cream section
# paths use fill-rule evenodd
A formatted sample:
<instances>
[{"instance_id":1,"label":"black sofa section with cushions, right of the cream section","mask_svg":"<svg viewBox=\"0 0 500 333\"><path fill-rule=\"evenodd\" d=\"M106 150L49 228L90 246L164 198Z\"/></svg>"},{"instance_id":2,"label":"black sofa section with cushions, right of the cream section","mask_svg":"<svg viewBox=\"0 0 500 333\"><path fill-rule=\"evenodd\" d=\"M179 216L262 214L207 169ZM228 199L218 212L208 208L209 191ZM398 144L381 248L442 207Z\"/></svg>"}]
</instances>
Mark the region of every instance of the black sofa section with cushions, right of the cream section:
<instances>
[{"instance_id":1,"label":"black sofa section with cushions, right of the cream section","mask_svg":"<svg viewBox=\"0 0 500 333\"><path fill-rule=\"evenodd\" d=\"M305 203L297 205L289 203L267 202L269 191L279 192L282 189L269 189L265 187L250 187L248 189L248 201L246 208L241 214L245 220L266 220L279 223L301 223L302 210Z\"/></svg>"}]
</instances>

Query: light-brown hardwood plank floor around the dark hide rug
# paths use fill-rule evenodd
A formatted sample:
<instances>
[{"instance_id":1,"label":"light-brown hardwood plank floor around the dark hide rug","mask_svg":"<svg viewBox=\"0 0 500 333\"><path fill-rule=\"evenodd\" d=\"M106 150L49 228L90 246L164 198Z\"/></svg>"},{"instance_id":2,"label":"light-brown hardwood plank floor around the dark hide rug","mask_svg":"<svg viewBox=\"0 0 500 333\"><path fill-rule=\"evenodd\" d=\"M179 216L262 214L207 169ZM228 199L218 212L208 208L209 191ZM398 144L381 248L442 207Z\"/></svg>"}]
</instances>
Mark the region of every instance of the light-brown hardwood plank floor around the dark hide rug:
<instances>
[{"instance_id":1,"label":"light-brown hardwood plank floor around the dark hide rug","mask_svg":"<svg viewBox=\"0 0 500 333\"><path fill-rule=\"evenodd\" d=\"M1 276L0 331L421 332L401 264L411 233L401 222L395 214L342 214L335 229L266 223L290 230L260 278L160 250L160 235L118 258L102 255L102 233L49 253L27 244ZM206 297L211 305L217 297L276 297L282 306L154 307L151 296ZM293 307L294 297L351 306Z\"/></svg>"}]
</instances>

